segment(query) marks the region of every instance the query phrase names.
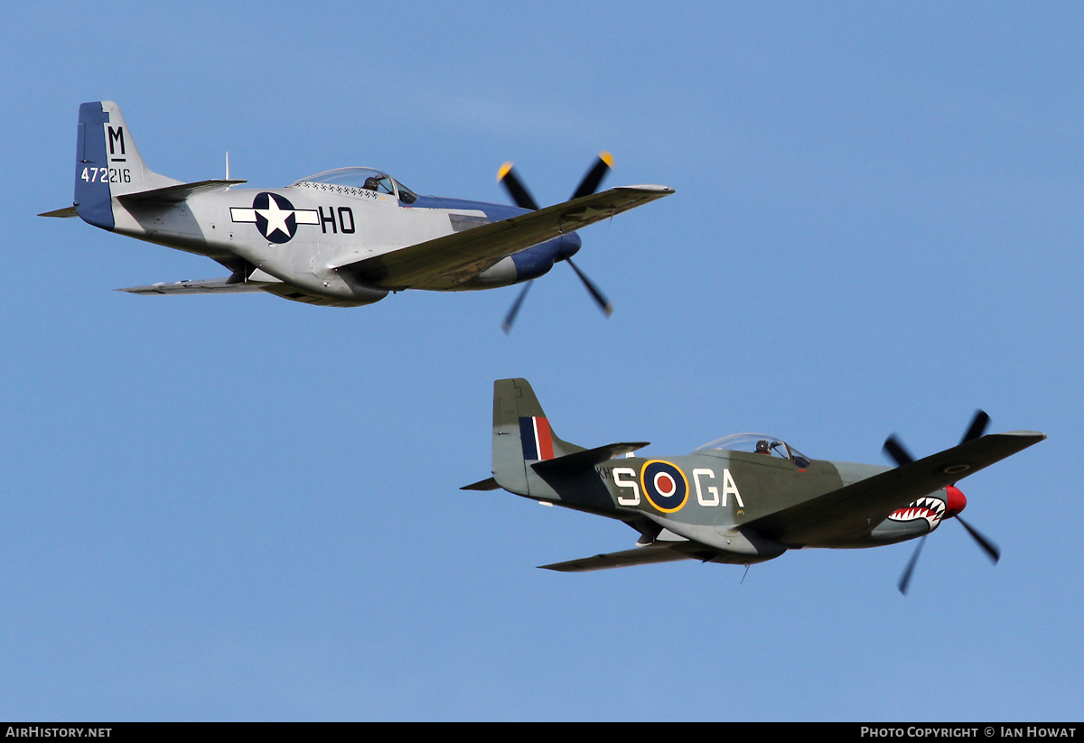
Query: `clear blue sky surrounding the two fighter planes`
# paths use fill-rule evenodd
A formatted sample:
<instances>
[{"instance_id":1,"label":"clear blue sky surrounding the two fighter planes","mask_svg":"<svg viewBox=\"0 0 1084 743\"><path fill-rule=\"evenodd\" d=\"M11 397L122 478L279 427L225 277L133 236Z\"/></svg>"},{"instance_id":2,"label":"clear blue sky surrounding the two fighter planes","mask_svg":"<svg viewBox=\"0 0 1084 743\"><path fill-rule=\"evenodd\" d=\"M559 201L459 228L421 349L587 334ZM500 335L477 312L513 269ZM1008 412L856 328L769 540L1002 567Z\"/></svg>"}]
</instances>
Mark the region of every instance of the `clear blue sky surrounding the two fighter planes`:
<instances>
[{"instance_id":1,"label":"clear blue sky surrounding the two fighter planes","mask_svg":"<svg viewBox=\"0 0 1084 743\"><path fill-rule=\"evenodd\" d=\"M1069 3L188 3L12 9L0 717L1080 719L1084 10ZM533 288L332 310L115 287L207 259L70 204L78 104L150 167L339 166L504 200L676 195ZM962 483L997 542L743 569L535 565L632 546L487 477L492 381L565 439L757 430L883 461L1049 440Z\"/></svg>"}]
</instances>

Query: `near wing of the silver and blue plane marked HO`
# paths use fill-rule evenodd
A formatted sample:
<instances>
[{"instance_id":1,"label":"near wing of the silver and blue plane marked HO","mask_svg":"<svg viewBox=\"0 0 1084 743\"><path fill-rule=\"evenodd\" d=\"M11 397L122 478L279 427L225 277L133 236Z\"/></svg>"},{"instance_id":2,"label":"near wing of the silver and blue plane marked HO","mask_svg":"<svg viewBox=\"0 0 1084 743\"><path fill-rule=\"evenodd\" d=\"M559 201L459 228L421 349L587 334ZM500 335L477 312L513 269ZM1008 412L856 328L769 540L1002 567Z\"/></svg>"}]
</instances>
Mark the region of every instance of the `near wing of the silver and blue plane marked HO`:
<instances>
[{"instance_id":1,"label":"near wing of the silver and blue plane marked HO","mask_svg":"<svg viewBox=\"0 0 1084 743\"><path fill-rule=\"evenodd\" d=\"M467 281L505 256L672 193L673 188L659 185L610 188L332 268L348 270L362 281L388 289L406 289L435 274L461 274Z\"/></svg>"}]
</instances>

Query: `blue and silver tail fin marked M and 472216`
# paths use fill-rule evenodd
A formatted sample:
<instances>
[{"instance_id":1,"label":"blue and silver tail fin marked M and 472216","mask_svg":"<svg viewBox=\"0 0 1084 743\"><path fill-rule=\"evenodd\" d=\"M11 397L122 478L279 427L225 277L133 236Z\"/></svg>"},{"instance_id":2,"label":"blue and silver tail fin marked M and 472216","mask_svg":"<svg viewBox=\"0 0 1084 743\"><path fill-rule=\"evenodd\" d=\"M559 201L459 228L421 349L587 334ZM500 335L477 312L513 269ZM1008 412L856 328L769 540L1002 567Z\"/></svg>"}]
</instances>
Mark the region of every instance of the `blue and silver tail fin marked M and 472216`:
<instances>
[{"instance_id":1,"label":"blue and silver tail fin marked M and 472216","mask_svg":"<svg viewBox=\"0 0 1084 743\"><path fill-rule=\"evenodd\" d=\"M113 197L179 183L143 164L117 104L94 101L79 106L75 206L83 221L113 230Z\"/></svg>"}]
</instances>

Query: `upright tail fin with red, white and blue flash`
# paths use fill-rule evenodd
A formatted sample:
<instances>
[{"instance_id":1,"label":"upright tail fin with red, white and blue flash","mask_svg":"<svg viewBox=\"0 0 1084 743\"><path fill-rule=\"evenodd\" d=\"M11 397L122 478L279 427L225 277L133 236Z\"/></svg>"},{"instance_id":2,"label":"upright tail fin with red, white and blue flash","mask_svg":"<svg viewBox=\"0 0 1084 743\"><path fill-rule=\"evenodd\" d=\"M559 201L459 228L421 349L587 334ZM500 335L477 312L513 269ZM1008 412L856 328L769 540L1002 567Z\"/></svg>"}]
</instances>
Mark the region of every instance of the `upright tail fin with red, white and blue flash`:
<instances>
[{"instance_id":1,"label":"upright tail fin with red, white and blue flash","mask_svg":"<svg viewBox=\"0 0 1084 743\"><path fill-rule=\"evenodd\" d=\"M530 382L493 382L493 479L501 487L527 495L529 464L582 451L553 432Z\"/></svg>"}]
</instances>

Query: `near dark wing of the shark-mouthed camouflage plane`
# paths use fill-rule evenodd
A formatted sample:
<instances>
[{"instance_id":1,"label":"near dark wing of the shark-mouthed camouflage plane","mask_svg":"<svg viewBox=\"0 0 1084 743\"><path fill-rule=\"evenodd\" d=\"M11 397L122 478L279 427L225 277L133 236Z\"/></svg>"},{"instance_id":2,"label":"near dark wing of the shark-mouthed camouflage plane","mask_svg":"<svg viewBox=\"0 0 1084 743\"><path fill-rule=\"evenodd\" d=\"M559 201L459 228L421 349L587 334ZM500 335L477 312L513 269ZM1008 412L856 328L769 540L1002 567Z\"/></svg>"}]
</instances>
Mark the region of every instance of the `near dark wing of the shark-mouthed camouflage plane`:
<instances>
[{"instance_id":1,"label":"near dark wing of the shark-mouthed camouflage plane","mask_svg":"<svg viewBox=\"0 0 1084 743\"><path fill-rule=\"evenodd\" d=\"M848 546L889 513L1046 439L1011 431L973 439L924 459L860 480L745 526L787 546Z\"/></svg>"}]
</instances>

